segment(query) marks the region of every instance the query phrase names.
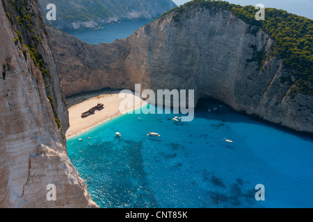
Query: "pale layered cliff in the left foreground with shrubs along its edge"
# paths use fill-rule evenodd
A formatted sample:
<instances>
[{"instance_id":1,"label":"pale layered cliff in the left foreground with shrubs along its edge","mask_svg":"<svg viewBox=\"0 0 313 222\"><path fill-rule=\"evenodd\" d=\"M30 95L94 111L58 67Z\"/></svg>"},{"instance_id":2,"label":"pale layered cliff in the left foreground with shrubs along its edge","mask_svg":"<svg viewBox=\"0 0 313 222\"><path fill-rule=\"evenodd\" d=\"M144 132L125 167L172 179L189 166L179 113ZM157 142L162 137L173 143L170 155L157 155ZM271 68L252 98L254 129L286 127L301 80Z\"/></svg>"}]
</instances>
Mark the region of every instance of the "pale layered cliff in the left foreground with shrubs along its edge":
<instances>
[{"instance_id":1,"label":"pale layered cliff in the left foreground with shrubs along its edge","mask_svg":"<svg viewBox=\"0 0 313 222\"><path fill-rule=\"evenodd\" d=\"M0 207L97 207L67 157L65 97L37 1L2 0L0 21Z\"/></svg>"}]
</instances>

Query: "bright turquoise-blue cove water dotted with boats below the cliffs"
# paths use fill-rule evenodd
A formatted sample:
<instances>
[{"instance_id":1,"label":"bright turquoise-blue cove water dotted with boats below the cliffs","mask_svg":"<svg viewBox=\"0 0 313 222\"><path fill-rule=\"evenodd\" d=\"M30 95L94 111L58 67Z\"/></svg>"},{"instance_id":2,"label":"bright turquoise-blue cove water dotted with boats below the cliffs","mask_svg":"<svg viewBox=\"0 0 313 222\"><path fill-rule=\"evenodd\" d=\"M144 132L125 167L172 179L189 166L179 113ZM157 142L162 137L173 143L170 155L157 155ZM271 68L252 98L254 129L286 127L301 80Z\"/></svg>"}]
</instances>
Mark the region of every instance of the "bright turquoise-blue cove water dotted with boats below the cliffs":
<instances>
[{"instance_id":1,"label":"bright turquoise-blue cove water dotted with boats below the cliffs","mask_svg":"<svg viewBox=\"0 0 313 222\"><path fill-rule=\"evenodd\" d=\"M312 137L218 101L201 101L191 122L175 116L125 114L67 141L100 207L313 207Z\"/></svg>"}]
</instances>

